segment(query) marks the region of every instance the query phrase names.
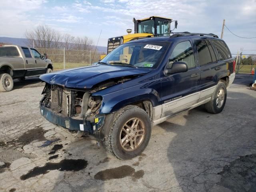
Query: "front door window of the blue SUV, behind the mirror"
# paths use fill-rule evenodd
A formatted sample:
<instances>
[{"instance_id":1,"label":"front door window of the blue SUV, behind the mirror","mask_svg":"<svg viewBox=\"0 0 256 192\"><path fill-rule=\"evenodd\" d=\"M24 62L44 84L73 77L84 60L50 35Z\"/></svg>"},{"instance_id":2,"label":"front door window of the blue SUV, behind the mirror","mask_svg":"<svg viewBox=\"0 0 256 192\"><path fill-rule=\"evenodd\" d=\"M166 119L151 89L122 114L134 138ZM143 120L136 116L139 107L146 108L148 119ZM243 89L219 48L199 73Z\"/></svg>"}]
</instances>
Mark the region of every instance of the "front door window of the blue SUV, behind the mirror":
<instances>
[{"instance_id":1,"label":"front door window of the blue SUV, behind the mirror","mask_svg":"<svg viewBox=\"0 0 256 192\"><path fill-rule=\"evenodd\" d=\"M195 57L190 41L184 41L177 44L174 50L172 51L169 61L182 61L186 62L188 68L195 67Z\"/></svg>"}]
</instances>

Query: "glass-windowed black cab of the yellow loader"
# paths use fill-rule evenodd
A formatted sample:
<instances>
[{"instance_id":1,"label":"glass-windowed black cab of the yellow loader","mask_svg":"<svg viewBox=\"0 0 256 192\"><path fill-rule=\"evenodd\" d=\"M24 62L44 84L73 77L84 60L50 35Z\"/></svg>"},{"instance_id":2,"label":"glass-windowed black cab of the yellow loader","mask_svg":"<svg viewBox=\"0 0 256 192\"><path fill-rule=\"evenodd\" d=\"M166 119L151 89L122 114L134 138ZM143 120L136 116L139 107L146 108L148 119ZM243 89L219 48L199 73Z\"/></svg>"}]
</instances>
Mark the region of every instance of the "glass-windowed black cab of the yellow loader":
<instances>
[{"instance_id":1,"label":"glass-windowed black cab of the yellow loader","mask_svg":"<svg viewBox=\"0 0 256 192\"><path fill-rule=\"evenodd\" d=\"M157 36L169 36L170 23L172 19L152 16L149 18L136 20L134 22L134 33L148 33Z\"/></svg>"}]
</instances>

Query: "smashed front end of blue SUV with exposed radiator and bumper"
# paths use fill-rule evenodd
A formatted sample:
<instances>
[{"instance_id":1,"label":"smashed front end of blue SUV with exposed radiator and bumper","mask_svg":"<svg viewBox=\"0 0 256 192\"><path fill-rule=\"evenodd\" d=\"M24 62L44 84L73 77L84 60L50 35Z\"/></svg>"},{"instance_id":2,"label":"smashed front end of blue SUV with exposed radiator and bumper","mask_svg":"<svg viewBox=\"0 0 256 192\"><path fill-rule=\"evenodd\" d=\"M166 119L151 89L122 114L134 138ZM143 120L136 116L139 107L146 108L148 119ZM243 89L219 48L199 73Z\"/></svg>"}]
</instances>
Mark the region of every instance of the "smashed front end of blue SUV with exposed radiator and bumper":
<instances>
[{"instance_id":1,"label":"smashed front end of blue SUV with exposed radiator and bumper","mask_svg":"<svg viewBox=\"0 0 256 192\"><path fill-rule=\"evenodd\" d=\"M94 134L102 128L104 115L98 115L102 98L90 91L78 91L46 83L40 111L48 121L69 130Z\"/></svg>"}]
</instances>

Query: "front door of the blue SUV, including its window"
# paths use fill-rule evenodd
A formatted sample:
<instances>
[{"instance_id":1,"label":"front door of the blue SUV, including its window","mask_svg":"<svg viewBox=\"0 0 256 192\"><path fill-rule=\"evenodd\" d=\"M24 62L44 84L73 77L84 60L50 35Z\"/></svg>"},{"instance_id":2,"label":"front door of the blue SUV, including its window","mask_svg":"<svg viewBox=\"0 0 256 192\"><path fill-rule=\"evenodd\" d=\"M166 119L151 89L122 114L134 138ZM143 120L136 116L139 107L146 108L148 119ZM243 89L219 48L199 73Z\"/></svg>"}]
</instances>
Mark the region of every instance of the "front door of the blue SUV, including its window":
<instances>
[{"instance_id":1,"label":"front door of the blue SUV, including its window","mask_svg":"<svg viewBox=\"0 0 256 192\"><path fill-rule=\"evenodd\" d=\"M170 63L183 61L188 71L171 74L161 79L162 116L168 116L196 104L199 99L200 70L196 66L190 40L179 42L169 58Z\"/></svg>"}]
</instances>

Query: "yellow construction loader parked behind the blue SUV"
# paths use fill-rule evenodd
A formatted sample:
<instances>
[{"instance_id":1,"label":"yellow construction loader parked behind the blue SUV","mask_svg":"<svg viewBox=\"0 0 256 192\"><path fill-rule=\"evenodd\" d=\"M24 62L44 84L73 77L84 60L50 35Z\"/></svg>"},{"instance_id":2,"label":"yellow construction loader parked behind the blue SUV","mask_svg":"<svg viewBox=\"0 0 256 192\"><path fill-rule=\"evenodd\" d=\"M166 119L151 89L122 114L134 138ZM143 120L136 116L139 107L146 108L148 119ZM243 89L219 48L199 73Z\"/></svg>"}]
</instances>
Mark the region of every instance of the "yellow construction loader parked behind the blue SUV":
<instances>
[{"instance_id":1,"label":"yellow construction loader parked behind the blue SUV","mask_svg":"<svg viewBox=\"0 0 256 192\"><path fill-rule=\"evenodd\" d=\"M148 36L168 36L170 35L170 24L175 22L175 27L177 28L177 20L172 20L170 18L151 16L148 18L136 20L133 18L134 22L134 34L131 34L132 30L127 29L127 35L118 36L108 39L108 52L109 54L112 50L124 44L128 41L136 40L139 38L145 38ZM104 58L106 55L101 55L100 59Z\"/></svg>"}]
</instances>

